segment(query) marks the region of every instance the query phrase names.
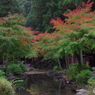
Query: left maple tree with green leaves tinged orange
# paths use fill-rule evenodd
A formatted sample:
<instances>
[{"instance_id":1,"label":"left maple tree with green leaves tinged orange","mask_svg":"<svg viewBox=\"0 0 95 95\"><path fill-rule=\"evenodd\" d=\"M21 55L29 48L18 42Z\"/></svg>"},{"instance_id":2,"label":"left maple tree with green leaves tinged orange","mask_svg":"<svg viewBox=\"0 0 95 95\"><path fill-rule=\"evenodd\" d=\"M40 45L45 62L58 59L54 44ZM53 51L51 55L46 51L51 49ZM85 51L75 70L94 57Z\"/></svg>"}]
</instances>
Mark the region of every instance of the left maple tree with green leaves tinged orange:
<instances>
[{"instance_id":1,"label":"left maple tree with green leaves tinged orange","mask_svg":"<svg viewBox=\"0 0 95 95\"><path fill-rule=\"evenodd\" d=\"M22 26L25 19L19 14L9 14L0 18L0 56L6 60L16 61L17 58L31 56L32 32Z\"/></svg>"}]
</instances>

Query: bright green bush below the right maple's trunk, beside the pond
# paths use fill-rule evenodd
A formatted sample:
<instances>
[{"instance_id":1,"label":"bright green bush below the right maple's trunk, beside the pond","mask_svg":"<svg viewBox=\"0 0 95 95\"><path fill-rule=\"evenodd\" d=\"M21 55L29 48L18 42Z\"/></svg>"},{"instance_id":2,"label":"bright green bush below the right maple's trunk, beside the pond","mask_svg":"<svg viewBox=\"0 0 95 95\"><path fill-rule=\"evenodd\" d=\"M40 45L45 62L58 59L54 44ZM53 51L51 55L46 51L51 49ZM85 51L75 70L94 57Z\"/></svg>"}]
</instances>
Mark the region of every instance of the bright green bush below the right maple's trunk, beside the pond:
<instances>
[{"instance_id":1,"label":"bright green bush below the right maple's trunk, beside the pond","mask_svg":"<svg viewBox=\"0 0 95 95\"><path fill-rule=\"evenodd\" d=\"M90 78L90 75L92 74L92 69L90 66L87 66L86 64L83 64L81 67L81 71L79 69L79 64L76 64L75 66L69 65L69 70L66 72L67 77L76 83L76 85L84 85L87 83L87 80Z\"/></svg>"}]
</instances>

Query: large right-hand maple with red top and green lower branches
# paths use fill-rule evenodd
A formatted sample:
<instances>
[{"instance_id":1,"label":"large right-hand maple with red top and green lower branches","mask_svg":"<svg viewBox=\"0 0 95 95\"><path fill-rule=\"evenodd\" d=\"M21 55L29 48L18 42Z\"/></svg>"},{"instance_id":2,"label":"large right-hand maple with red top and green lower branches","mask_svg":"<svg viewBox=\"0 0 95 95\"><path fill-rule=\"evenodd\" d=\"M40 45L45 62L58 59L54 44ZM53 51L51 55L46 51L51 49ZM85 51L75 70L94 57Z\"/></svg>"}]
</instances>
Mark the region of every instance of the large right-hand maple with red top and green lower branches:
<instances>
[{"instance_id":1,"label":"large right-hand maple with red top and green lower branches","mask_svg":"<svg viewBox=\"0 0 95 95\"><path fill-rule=\"evenodd\" d=\"M80 67L82 52L95 51L95 11L90 12L93 2L82 3L74 10L63 14L67 18L52 19L55 31L39 34L36 40L38 51L46 59L58 59L75 55ZM36 45L35 45L36 46Z\"/></svg>"}]
</instances>

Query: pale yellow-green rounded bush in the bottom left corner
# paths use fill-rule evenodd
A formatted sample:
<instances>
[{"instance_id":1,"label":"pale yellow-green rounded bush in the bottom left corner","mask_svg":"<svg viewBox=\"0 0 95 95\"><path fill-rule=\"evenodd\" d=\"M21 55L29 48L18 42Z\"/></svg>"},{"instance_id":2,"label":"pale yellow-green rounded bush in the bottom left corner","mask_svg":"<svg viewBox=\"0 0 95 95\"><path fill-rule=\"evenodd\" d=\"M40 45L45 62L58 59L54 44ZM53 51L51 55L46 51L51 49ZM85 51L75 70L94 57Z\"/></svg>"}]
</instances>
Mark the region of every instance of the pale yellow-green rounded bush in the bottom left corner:
<instances>
[{"instance_id":1,"label":"pale yellow-green rounded bush in the bottom left corner","mask_svg":"<svg viewBox=\"0 0 95 95\"><path fill-rule=\"evenodd\" d=\"M0 78L0 95L14 95L12 84L4 78Z\"/></svg>"}]
</instances>

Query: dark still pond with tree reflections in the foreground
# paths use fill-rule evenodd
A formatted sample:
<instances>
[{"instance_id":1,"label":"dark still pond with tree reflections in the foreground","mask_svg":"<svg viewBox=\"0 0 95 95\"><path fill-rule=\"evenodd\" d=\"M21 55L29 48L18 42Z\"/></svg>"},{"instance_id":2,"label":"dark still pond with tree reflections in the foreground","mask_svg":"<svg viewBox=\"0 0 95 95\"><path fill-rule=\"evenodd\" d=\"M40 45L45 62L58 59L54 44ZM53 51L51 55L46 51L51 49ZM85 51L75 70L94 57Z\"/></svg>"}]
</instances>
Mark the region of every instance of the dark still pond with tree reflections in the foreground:
<instances>
[{"instance_id":1,"label":"dark still pond with tree reflections in the foreground","mask_svg":"<svg viewBox=\"0 0 95 95\"><path fill-rule=\"evenodd\" d=\"M47 75L28 75L16 86L17 95L75 95L63 81Z\"/></svg>"}]
</instances>

